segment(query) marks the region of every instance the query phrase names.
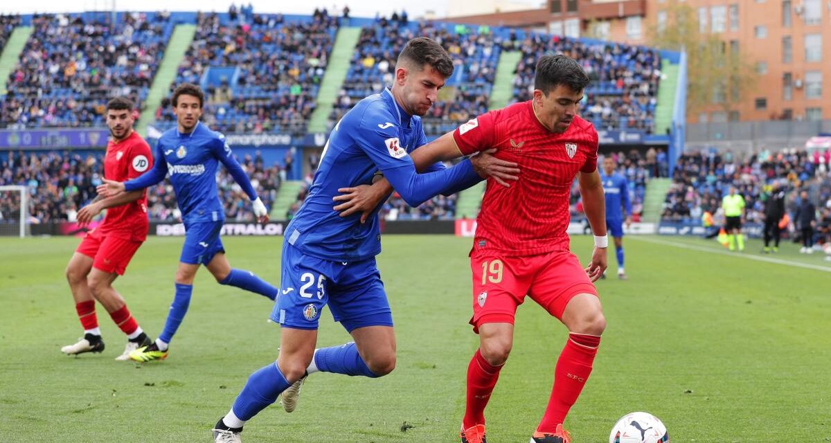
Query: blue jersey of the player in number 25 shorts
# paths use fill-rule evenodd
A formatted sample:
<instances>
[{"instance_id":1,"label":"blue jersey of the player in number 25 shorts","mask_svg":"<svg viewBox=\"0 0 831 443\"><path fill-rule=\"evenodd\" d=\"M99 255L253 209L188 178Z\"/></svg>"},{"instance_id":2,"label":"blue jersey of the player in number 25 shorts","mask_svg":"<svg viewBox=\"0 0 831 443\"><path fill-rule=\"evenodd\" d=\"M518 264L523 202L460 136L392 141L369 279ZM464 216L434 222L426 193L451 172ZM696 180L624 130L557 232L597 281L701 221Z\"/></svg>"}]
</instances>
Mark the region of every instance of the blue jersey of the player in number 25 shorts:
<instances>
[{"instance_id":1,"label":"blue jersey of the player in number 25 shorts","mask_svg":"<svg viewBox=\"0 0 831 443\"><path fill-rule=\"evenodd\" d=\"M411 206L482 180L470 160L449 169L432 165L425 174L416 174L409 153L426 142L420 117L407 114L391 91L359 101L329 135L306 201L286 228L288 243L312 257L338 262L380 253L381 204L366 224L361 224L361 214L341 217L332 209L339 188L371 185L378 170Z\"/></svg>"}]
</instances>

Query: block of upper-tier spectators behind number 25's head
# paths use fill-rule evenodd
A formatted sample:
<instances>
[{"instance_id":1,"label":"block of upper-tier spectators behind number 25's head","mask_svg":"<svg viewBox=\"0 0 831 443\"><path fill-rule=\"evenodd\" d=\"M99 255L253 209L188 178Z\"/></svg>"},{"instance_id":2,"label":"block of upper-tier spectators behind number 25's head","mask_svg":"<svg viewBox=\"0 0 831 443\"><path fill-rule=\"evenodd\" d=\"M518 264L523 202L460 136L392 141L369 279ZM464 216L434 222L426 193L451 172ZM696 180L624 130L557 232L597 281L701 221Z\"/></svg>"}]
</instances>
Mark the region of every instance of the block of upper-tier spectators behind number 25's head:
<instances>
[{"instance_id":1,"label":"block of upper-tier spectators behind number 25's head","mask_svg":"<svg viewBox=\"0 0 831 443\"><path fill-rule=\"evenodd\" d=\"M461 122L488 111L502 39L489 27L448 27L443 23L411 23L406 12L391 19L376 17L358 39L347 80L330 116L334 126L347 111L366 96L390 86L398 53L413 37L430 37L447 50L455 71L440 91L439 100L422 117L427 135L440 135Z\"/></svg>"}]
</instances>

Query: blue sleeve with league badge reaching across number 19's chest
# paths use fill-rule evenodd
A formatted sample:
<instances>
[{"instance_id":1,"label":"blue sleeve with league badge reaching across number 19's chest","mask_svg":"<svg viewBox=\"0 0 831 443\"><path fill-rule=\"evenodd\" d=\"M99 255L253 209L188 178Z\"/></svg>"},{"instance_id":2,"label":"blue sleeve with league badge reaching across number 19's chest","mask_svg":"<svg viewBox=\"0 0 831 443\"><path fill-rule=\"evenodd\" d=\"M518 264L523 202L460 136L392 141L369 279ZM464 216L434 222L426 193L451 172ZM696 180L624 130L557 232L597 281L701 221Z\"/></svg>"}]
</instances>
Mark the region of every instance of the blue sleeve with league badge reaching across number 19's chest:
<instances>
[{"instance_id":1,"label":"blue sleeve with league badge reaching across number 19's chest","mask_svg":"<svg viewBox=\"0 0 831 443\"><path fill-rule=\"evenodd\" d=\"M427 174L417 174L416 165L406 149L400 145L396 126L381 129L381 126L372 123L370 121L364 125L361 121L352 138L384 173L386 180L389 180L392 187L401 194L406 204L416 207L449 189L450 184L470 180L471 175L476 175L470 162Z\"/></svg>"}]
</instances>

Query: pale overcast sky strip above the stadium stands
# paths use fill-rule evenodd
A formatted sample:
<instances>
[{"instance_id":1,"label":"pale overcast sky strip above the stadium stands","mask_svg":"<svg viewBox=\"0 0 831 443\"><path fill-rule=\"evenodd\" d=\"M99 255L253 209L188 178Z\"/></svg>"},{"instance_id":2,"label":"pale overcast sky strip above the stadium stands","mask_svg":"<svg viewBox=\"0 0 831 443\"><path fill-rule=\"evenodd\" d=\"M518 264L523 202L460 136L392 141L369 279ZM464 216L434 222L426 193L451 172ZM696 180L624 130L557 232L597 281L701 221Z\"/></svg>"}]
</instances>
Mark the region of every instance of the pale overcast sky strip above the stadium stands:
<instances>
[{"instance_id":1,"label":"pale overcast sky strip above the stadium stands","mask_svg":"<svg viewBox=\"0 0 831 443\"><path fill-rule=\"evenodd\" d=\"M473 0L475 1L475 0ZM117 10L135 11L140 5L141 11L227 11L232 0L0 0L0 12L81 12L93 10L111 10L115 3ZM311 14L315 7L327 7L342 10L348 4L353 17L375 17L376 12L389 15L393 10L405 8L410 17L422 17L426 11L435 12L437 17L444 17L448 0L396 0L386 2L378 0L250 0L255 12L283 12ZM246 4L248 0L246 0Z\"/></svg>"}]
</instances>

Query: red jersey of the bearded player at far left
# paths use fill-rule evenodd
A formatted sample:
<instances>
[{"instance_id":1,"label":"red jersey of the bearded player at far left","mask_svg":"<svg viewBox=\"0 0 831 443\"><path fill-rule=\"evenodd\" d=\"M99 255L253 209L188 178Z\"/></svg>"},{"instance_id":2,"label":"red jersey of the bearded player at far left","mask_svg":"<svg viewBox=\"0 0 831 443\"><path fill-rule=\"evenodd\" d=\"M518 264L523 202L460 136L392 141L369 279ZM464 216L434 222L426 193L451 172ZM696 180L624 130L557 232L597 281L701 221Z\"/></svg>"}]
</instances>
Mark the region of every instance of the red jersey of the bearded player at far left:
<instances>
[{"instance_id":1,"label":"red jersey of the bearded player at far left","mask_svg":"<svg viewBox=\"0 0 831 443\"><path fill-rule=\"evenodd\" d=\"M107 143L104 156L104 178L107 180L135 179L152 167L150 146L135 130L124 140L111 139ZM104 223L98 227L98 231L121 239L143 242L147 239L149 228L145 191L140 199L107 209Z\"/></svg>"}]
</instances>

